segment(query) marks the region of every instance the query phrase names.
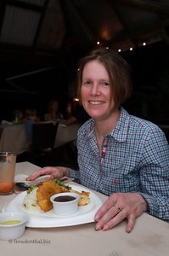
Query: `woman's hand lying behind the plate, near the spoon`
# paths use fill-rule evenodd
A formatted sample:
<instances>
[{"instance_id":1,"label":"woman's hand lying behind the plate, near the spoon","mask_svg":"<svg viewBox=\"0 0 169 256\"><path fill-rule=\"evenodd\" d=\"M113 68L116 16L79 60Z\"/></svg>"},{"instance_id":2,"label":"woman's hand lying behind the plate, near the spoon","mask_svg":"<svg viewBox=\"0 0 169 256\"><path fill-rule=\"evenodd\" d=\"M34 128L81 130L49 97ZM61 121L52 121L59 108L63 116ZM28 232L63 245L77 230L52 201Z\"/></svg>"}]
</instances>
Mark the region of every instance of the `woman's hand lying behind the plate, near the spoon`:
<instances>
[{"instance_id":1,"label":"woman's hand lying behind the plate, near the spoon","mask_svg":"<svg viewBox=\"0 0 169 256\"><path fill-rule=\"evenodd\" d=\"M69 171L67 167L57 166L57 167L44 167L42 169L38 169L36 172L33 172L29 177L26 178L26 180L35 180L37 177L40 177L42 175L50 175L50 178L54 177L63 177L67 176L69 177Z\"/></svg>"}]
</instances>

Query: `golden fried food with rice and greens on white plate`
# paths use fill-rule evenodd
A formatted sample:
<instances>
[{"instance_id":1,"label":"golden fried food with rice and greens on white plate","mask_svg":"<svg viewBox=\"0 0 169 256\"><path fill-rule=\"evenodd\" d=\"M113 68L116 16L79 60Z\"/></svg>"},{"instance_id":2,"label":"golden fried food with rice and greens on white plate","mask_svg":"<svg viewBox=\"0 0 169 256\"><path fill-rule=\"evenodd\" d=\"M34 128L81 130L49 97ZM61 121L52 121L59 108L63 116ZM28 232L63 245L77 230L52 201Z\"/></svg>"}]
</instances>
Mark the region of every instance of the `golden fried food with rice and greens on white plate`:
<instances>
[{"instance_id":1,"label":"golden fried food with rice and greens on white plate","mask_svg":"<svg viewBox=\"0 0 169 256\"><path fill-rule=\"evenodd\" d=\"M53 208L50 197L63 192L74 192L80 195L78 201L79 206L85 206L89 202L89 192L73 190L59 179L54 178L53 180L45 181L41 185L32 186L28 189L23 201L23 207L29 212L48 212Z\"/></svg>"}]
</instances>

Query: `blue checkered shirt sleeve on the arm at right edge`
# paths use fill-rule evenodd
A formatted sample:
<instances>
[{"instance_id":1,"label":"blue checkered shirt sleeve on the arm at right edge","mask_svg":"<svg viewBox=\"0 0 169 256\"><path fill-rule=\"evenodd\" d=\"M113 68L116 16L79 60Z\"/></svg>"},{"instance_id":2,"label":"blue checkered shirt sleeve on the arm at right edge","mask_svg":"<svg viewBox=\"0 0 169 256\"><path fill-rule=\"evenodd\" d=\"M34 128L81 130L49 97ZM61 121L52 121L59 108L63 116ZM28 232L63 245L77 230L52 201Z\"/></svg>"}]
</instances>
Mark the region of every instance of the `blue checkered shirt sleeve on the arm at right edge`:
<instances>
[{"instance_id":1,"label":"blue checkered shirt sleeve on the arm at right edge","mask_svg":"<svg viewBox=\"0 0 169 256\"><path fill-rule=\"evenodd\" d=\"M169 145L161 130L151 131L144 144L140 170L142 193L149 213L169 219Z\"/></svg>"}]
</instances>

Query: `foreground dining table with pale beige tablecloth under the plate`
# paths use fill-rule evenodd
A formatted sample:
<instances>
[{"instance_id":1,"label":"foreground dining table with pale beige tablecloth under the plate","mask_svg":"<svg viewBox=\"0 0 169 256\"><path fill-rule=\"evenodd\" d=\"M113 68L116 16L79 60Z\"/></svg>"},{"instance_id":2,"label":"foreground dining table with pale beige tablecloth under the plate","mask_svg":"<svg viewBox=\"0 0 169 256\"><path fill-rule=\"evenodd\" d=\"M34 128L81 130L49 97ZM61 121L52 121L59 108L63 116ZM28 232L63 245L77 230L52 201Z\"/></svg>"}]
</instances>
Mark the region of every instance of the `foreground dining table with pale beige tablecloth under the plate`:
<instances>
[{"instance_id":1,"label":"foreground dining table with pale beige tablecloth under the plate","mask_svg":"<svg viewBox=\"0 0 169 256\"><path fill-rule=\"evenodd\" d=\"M30 162L16 164L15 175L29 175L39 167ZM76 185L70 181L69 185ZM78 184L81 186L80 184ZM87 191L87 188L82 186ZM108 197L93 191L104 202ZM0 212L18 194L0 195ZM57 218L57 217L55 217ZM64 221L64 220L63 220ZM108 231L95 230L95 222L61 227L27 227L16 240L0 241L1 255L59 256L167 256L169 255L169 224L144 212L136 219L131 233L127 220ZM115 254L116 253L116 254Z\"/></svg>"}]
</instances>

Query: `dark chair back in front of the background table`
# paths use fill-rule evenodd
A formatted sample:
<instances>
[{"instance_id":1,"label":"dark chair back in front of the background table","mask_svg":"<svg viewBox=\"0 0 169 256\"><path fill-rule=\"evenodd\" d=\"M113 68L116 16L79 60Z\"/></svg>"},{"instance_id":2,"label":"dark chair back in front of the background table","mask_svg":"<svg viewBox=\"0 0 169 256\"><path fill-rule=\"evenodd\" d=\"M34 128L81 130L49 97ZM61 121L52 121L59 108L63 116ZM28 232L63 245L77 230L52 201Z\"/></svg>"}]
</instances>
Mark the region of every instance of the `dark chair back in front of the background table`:
<instances>
[{"instance_id":1,"label":"dark chair back in front of the background table","mask_svg":"<svg viewBox=\"0 0 169 256\"><path fill-rule=\"evenodd\" d=\"M58 123L55 125L54 123L34 123L32 125L31 154L33 163L39 166L50 164L57 130ZM45 160L48 160L48 163Z\"/></svg>"}]
</instances>

